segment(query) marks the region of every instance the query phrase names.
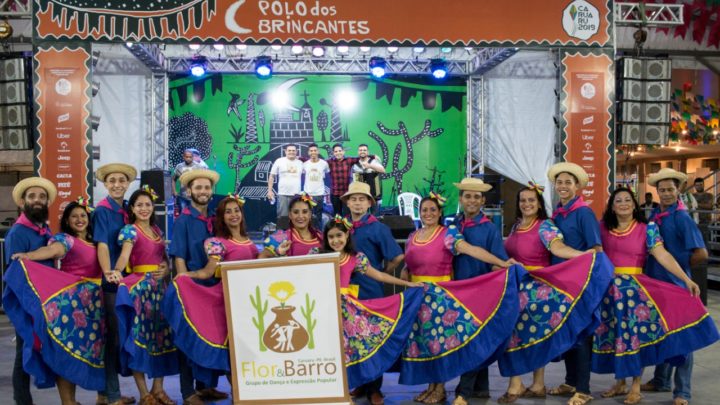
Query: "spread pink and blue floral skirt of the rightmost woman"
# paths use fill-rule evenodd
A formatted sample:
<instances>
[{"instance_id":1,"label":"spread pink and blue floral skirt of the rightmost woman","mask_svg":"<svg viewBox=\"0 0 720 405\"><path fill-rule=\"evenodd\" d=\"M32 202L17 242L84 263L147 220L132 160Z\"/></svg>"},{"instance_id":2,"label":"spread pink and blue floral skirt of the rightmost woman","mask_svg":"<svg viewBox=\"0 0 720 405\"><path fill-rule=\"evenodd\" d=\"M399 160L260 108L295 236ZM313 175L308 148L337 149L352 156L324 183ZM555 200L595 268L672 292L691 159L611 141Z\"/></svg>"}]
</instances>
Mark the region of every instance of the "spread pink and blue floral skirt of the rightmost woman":
<instances>
[{"instance_id":1,"label":"spread pink and blue floral skirt of the rightmost woman","mask_svg":"<svg viewBox=\"0 0 720 405\"><path fill-rule=\"evenodd\" d=\"M616 275L600 305L592 371L616 378L642 375L646 366L683 356L718 340L699 298L649 276Z\"/></svg>"}]
</instances>

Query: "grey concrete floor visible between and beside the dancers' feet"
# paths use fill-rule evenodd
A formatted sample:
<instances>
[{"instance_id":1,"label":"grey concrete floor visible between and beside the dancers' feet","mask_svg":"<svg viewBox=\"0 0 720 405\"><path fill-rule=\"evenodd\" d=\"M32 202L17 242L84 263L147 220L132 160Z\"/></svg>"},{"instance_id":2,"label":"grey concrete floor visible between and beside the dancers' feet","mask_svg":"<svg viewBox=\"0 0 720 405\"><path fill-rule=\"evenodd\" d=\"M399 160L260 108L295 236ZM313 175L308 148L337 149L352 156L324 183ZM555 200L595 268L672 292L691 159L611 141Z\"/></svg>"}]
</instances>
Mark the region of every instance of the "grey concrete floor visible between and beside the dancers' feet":
<instances>
[{"instance_id":1,"label":"grey concrete floor visible between and beside the dancers' feet","mask_svg":"<svg viewBox=\"0 0 720 405\"><path fill-rule=\"evenodd\" d=\"M720 323L720 291L710 290L708 294L708 308L715 319L715 323ZM12 342L13 337L12 325L8 322L5 315L0 316L0 404L12 403L12 362L15 355L15 344ZM643 381L649 379L652 370L646 370ZM565 375L564 367L561 363L552 363L546 368L546 383L554 386L563 381ZM720 386L718 385L718 375L720 375L720 344L715 344L695 354L695 369L693 373L693 405L712 405L720 404ZM530 376L525 377L526 384L529 384ZM613 383L612 376L596 375L591 379L591 388L596 398L600 397L600 393L610 387ZM446 384L450 390L455 387L457 380ZM500 377L497 367L490 367L490 385L491 396L489 400L471 400L471 404L495 404L496 399L505 392L507 380ZM220 387L222 391L229 392L230 388L227 381L221 381ZM415 404L412 397L423 390L422 386L403 386L397 384L397 374L388 373L385 375L384 393L386 395L385 403L388 405L410 405ZM135 395L137 390L131 378L121 379L121 390L123 394ZM180 401L180 389L178 386L177 376L165 379L165 390L175 400ZM59 404L59 397L55 389L38 390L33 387L33 397L37 405ZM77 400L85 405L95 403L95 393L78 389ZM566 399L559 397L548 397L541 400L518 400L517 404L564 404ZM181 403L181 402L180 402ZM231 404L230 400L216 402L216 404ZM359 400L359 405L364 405L365 400ZM450 403L448 401L447 403ZM622 397L613 399L596 399L593 404L622 404ZM672 404L672 395L670 393L647 393L642 401L644 404Z\"/></svg>"}]
</instances>

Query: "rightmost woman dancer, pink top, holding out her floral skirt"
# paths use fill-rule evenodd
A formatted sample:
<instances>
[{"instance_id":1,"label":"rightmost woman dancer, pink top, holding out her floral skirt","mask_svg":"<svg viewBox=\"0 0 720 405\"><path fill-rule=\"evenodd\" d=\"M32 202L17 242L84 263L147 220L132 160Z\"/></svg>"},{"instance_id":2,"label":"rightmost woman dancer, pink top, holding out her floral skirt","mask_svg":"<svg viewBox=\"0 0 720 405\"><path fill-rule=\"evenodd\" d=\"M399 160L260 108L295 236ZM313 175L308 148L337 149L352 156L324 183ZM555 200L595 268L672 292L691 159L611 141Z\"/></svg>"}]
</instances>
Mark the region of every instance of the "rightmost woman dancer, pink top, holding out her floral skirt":
<instances>
[{"instance_id":1,"label":"rightmost woman dancer, pink top, holding out her floral skirt","mask_svg":"<svg viewBox=\"0 0 720 405\"><path fill-rule=\"evenodd\" d=\"M718 339L715 325L697 298L700 289L663 246L657 225L645 223L632 192L610 194L601 225L603 250L615 277L600 306L593 342L593 371L615 373L603 397L625 395L637 404L642 368L682 356ZM688 291L643 274L648 255L685 283ZM632 377L628 392L625 378Z\"/></svg>"}]
</instances>

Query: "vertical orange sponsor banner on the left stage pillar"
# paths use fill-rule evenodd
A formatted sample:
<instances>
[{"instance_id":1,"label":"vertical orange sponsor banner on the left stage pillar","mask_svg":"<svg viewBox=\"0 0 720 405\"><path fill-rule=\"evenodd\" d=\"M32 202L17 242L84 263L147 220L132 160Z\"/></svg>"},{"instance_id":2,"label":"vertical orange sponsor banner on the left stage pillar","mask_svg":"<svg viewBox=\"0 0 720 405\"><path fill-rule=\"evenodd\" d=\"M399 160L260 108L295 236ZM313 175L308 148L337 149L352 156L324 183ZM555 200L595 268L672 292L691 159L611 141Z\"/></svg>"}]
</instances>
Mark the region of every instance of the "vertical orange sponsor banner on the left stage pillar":
<instances>
[{"instance_id":1,"label":"vertical orange sponsor banner on the left stage pillar","mask_svg":"<svg viewBox=\"0 0 720 405\"><path fill-rule=\"evenodd\" d=\"M89 44L40 44L34 52L35 172L57 186L50 225L59 229L65 206L89 198Z\"/></svg>"}]
</instances>

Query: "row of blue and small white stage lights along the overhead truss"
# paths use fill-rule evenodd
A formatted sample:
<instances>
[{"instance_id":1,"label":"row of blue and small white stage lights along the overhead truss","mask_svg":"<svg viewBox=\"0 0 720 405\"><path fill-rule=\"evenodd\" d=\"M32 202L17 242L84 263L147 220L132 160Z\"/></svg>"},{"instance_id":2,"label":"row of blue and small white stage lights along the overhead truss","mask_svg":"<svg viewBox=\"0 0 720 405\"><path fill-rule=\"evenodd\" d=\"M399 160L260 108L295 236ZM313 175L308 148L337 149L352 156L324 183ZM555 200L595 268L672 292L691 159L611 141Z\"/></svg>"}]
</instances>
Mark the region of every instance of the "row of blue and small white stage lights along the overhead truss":
<instances>
[{"instance_id":1,"label":"row of blue and small white stage lights along the overhead truss","mask_svg":"<svg viewBox=\"0 0 720 405\"><path fill-rule=\"evenodd\" d=\"M191 44L190 49L192 50L199 50L200 45L197 44ZM213 47L216 50L223 50L224 45L222 44L215 44ZM239 50L245 50L247 49L247 45L235 45L235 47ZM242 47L242 49L240 48ZM279 51L281 46L280 45L272 45L270 47L274 51ZM370 51L370 47L364 47L361 46L360 48L361 52L367 53ZM472 49L472 48L469 48ZM347 46L338 46L336 48L338 53L346 54L349 52L349 47ZM395 53L398 51L398 47L389 46L387 47L387 51L389 53ZM425 51L425 48L422 47L415 47L413 48L414 53L422 53ZM441 48L441 52L448 53L451 52L452 48ZM304 52L304 47L302 45L293 45L291 47L291 52L295 55L299 55ZM322 46L315 46L312 48L312 55L315 57L322 57L325 55L325 48ZM191 62L190 62L190 73L193 76L200 77L205 74L207 68L207 58L204 56L195 56ZM370 58L370 61L368 62L368 70L370 72L370 75L372 75L375 78L382 78L387 74L387 61L385 58L380 56L373 56ZM443 58L437 58L437 59L431 59L430 65L429 65L430 74L438 80L442 80L448 75L448 64ZM273 61L272 57L270 56L259 56L255 58L255 74L261 78L261 79L267 79L272 76L273 73Z\"/></svg>"}]
</instances>

